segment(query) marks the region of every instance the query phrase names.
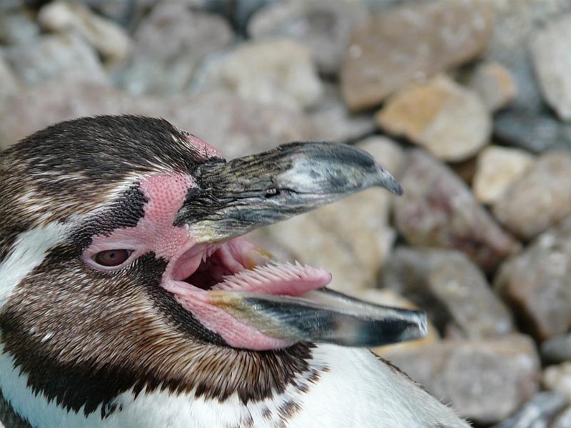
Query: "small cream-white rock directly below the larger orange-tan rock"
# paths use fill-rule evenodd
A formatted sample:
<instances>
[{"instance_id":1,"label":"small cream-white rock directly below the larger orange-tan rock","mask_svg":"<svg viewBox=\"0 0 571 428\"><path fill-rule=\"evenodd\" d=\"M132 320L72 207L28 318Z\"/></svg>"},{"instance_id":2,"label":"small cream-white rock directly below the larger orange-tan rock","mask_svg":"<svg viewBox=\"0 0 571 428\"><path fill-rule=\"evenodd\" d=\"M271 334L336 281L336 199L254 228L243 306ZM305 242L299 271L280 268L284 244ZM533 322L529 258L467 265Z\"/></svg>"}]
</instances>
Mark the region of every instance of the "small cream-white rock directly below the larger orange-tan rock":
<instances>
[{"instance_id":1,"label":"small cream-white rock directly below the larger orange-tan rock","mask_svg":"<svg viewBox=\"0 0 571 428\"><path fill-rule=\"evenodd\" d=\"M485 148L477 157L473 179L476 199L485 204L497 203L510 185L525 175L533 162L533 156L517 148Z\"/></svg>"}]
</instances>

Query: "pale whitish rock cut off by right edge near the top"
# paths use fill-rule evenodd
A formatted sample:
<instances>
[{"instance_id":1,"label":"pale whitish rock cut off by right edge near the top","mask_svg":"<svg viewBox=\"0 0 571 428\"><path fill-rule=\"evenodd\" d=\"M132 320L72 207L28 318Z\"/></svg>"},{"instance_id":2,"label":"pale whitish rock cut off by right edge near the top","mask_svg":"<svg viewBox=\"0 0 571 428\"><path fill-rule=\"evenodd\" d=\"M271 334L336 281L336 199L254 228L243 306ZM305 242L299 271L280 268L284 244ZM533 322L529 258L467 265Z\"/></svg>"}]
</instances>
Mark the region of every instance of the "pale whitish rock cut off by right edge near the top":
<instances>
[{"instance_id":1,"label":"pale whitish rock cut off by right edge near the top","mask_svg":"<svg viewBox=\"0 0 571 428\"><path fill-rule=\"evenodd\" d=\"M571 120L571 14L548 23L530 41L530 51L545 101L563 120Z\"/></svg>"}]
</instances>

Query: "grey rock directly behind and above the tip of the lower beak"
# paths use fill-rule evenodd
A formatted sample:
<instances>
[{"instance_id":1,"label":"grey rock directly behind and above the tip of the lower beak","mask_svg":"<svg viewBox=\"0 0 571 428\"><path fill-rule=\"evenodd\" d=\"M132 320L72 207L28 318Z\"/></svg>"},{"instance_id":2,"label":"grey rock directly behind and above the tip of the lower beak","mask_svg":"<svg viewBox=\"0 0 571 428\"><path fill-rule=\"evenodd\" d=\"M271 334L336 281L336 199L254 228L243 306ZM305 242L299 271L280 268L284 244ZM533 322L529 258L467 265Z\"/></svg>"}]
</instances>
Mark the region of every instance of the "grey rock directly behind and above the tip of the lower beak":
<instances>
[{"instance_id":1,"label":"grey rock directly behind and above the tip of the lower beak","mask_svg":"<svg viewBox=\"0 0 571 428\"><path fill-rule=\"evenodd\" d=\"M514 330L510 312L485 276L458 251L397 248L381 284L426 310L441 331L453 323L463 337L478 339Z\"/></svg>"}]
</instances>

